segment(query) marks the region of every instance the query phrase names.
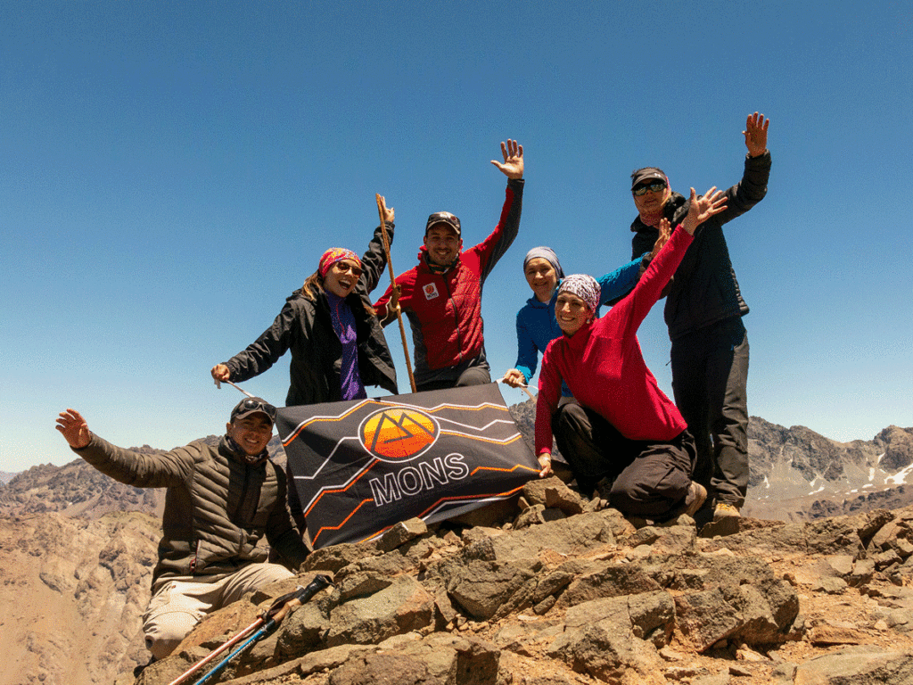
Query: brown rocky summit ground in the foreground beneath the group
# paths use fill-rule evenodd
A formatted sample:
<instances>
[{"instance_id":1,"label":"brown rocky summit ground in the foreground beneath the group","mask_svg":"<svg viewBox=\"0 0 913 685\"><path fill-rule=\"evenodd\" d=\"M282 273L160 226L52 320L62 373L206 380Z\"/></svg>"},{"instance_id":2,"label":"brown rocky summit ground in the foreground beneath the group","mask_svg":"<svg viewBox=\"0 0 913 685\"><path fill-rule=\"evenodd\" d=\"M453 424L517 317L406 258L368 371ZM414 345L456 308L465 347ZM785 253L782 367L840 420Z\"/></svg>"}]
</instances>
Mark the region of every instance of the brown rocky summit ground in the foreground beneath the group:
<instances>
[{"instance_id":1,"label":"brown rocky summit ground in the foreground beneath the group","mask_svg":"<svg viewBox=\"0 0 913 685\"><path fill-rule=\"evenodd\" d=\"M702 537L686 516L636 528L597 502L537 480L508 522L412 520L319 550L116 682L170 683L315 574L334 585L218 682L913 682L913 508Z\"/></svg>"}]
</instances>

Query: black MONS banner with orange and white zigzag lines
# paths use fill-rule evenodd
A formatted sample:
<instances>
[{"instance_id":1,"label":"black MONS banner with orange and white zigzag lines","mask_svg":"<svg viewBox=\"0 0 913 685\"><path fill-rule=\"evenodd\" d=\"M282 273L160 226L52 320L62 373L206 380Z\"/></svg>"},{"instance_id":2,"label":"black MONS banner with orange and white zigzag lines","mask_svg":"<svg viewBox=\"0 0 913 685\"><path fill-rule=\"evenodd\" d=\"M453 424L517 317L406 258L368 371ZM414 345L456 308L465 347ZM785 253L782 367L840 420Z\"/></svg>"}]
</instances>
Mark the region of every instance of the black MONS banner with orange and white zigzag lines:
<instances>
[{"instance_id":1,"label":"black MONS banner with orange and white zigzag lines","mask_svg":"<svg viewBox=\"0 0 913 685\"><path fill-rule=\"evenodd\" d=\"M315 549L443 521L539 475L494 383L289 406L276 426Z\"/></svg>"}]
</instances>

